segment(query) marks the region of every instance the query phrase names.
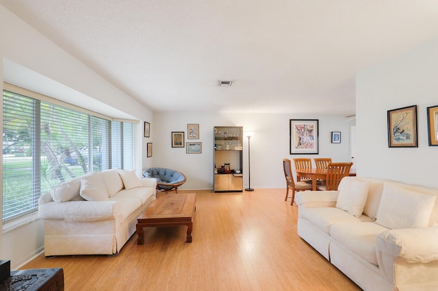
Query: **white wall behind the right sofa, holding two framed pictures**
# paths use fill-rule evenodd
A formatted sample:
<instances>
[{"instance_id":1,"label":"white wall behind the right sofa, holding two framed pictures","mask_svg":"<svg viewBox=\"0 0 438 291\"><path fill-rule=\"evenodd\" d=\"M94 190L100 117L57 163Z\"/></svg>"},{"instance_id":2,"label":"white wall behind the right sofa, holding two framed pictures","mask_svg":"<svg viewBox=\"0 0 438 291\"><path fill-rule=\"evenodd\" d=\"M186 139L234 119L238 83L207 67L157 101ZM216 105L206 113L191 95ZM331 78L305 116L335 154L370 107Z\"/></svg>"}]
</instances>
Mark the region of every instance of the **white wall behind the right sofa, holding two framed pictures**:
<instances>
[{"instance_id":1,"label":"white wall behind the right sofa, holding two framed pictures","mask_svg":"<svg viewBox=\"0 0 438 291\"><path fill-rule=\"evenodd\" d=\"M438 188L426 107L438 105L438 39L357 75L357 175ZM388 148L387 111L417 105L418 148Z\"/></svg>"}]
</instances>

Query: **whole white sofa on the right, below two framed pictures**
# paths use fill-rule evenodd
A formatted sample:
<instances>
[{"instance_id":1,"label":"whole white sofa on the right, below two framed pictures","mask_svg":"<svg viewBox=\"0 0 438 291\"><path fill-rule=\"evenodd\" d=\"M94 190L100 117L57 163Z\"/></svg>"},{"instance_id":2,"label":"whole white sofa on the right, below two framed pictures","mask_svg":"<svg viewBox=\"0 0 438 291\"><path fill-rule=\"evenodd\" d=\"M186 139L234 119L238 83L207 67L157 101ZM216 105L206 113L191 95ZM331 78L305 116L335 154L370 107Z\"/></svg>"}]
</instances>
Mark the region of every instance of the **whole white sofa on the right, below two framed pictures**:
<instances>
[{"instance_id":1,"label":"whole white sofa on the right, below two framed pictures","mask_svg":"<svg viewBox=\"0 0 438 291\"><path fill-rule=\"evenodd\" d=\"M347 177L296 194L298 235L363 290L438 290L438 190Z\"/></svg>"}]
</instances>

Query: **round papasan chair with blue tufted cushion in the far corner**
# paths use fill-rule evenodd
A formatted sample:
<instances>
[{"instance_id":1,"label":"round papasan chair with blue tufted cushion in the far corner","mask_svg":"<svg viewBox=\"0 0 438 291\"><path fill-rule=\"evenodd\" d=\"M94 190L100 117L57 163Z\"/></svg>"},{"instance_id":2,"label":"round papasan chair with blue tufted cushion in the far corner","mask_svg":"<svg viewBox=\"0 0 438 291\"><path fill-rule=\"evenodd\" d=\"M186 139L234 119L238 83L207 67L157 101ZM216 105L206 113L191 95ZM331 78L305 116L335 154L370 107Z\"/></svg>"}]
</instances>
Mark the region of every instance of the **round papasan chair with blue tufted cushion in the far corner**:
<instances>
[{"instance_id":1,"label":"round papasan chair with blue tufted cushion in the far corner","mask_svg":"<svg viewBox=\"0 0 438 291\"><path fill-rule=\"evenodd\" d=\"M142 175L144 178L157 179L157 190L166 192L175 189L178 193L178 187L187 180L181 172L162 167L144 169Z\"/></svg>"}]
</instances>

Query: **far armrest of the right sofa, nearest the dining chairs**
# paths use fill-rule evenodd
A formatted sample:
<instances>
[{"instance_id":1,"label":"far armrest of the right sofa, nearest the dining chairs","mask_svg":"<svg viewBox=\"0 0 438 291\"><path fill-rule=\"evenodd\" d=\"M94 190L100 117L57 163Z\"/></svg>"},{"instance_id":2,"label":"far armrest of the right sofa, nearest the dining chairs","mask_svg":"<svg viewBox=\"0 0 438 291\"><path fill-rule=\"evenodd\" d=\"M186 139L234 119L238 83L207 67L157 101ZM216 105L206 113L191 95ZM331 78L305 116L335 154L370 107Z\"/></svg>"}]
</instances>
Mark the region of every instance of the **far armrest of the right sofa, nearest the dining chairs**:
<instances>
[{"instance_id":1,"label":"far armrest of the right sofa, nearest the dining chairs","mask_svg":"<svg viewBox=\"0 0 438 291\"><path fill-rule=\"evenodd\" d=\"M295 194L298 207L335 207L339 191L300 191Z\"/></svg>"}]
</instances>

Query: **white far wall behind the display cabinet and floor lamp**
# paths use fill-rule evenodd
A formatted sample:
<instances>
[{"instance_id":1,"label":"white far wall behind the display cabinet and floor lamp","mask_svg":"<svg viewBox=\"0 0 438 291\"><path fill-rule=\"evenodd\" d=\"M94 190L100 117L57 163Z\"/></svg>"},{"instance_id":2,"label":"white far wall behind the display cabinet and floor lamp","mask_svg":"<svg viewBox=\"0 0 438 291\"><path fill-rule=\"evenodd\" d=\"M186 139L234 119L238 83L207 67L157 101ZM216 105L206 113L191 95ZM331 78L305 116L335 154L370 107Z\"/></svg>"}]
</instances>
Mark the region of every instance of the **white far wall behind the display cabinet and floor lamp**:
<instances>
[{"instance_id":1,"label":"white far wall behind the display cabinet and floor lamp","mask_svg":"<svg viewBox=\"0 0 438 291\"><path fill-rule=\"evenodd\" d=\"M318 155L289 154L289 120L318 119L320 148ZM354 122L354 121L353 121ZM201 154L186 154L185 148L171 147L172 131L183 131L187 142L187 124L199 124ZM349 161L349 123L343 115L288 115L238 113L155 113L154 167L182 171L188 181L181 189L213 189L214 126L244 126L253 131L250 139L250 175L253 188L285 188L283 158L331 157ZM342 143L331 143L331 131L342 132ZM248 138L244 137L244 173L248 173ZM244 175L244 186L248 176Z\"/></svg>"}]
</instances>

